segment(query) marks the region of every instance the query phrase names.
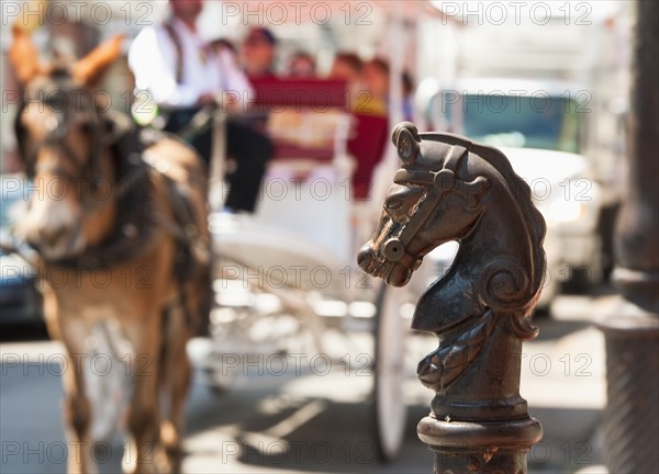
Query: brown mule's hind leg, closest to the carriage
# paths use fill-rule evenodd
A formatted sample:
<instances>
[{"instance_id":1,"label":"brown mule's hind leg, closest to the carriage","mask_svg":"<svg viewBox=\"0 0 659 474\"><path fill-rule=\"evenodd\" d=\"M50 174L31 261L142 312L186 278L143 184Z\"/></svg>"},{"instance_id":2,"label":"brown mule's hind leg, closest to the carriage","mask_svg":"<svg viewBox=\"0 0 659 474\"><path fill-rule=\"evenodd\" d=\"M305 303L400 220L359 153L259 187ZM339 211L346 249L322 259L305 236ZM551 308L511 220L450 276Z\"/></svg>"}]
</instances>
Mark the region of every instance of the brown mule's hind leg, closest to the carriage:
<instances>
[{"instance_id":1,"label":"brown mule's hind leg, closest to the carriage","mask_svg":"<svg viewBox=\"0 0 659 474\"><path fill-rule=\"evenodd\" d=\"M187 327L186 315L180 305L168 309L165 320L167 327L164 330L163 390L169 405L167 413L163 414L165 419L160 427L160 436L171 471L179 472L182 461L181 440L185 429L186 397L191 373L186 352L190 329Z\"/></svg>"}]
</instances>

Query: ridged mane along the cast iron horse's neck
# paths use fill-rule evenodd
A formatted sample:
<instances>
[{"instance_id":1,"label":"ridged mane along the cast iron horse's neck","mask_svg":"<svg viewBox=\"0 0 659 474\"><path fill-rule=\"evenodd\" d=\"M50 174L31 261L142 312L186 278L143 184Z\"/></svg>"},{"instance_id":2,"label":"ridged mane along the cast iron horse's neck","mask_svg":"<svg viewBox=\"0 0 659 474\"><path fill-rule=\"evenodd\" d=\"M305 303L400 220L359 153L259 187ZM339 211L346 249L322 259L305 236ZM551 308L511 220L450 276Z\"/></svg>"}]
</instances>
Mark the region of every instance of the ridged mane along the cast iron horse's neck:
<instances>
[{"instance_id":1,"label":"ridged mane along the cast iron horse's neck","mask_svg":"<svg viewBox=\"0 0 659 474\"><path fill-rule=\"evenodd\" d=\"M458 145L467 148L468 151L478 155L490 163L505 180L507 188L517 204L520 212L524 216L528 235L532 239L533 261L540 262L534 268L532 280L532 301L539 295L540 287L545 278L546 257L543 249L546 225L540 212L534 206L530 194L530 187L520 178L513 170L510 161L499 149L471 142L465 137L447 133L422 133L420 137L443 142L449 145Z\"/></svg>"}]
</instances>

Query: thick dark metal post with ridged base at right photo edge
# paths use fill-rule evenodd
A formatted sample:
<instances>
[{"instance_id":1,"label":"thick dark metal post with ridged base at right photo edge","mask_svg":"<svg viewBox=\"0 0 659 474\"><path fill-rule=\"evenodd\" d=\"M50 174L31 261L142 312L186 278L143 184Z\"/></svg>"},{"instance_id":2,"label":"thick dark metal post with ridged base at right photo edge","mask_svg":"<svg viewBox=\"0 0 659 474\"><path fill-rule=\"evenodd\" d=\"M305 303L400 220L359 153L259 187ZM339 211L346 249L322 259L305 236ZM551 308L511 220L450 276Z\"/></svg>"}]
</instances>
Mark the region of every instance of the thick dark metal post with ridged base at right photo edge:
<instances>
[{"instance_id":1,"label":"thick dark metal post with ridged base at right photo edge","mask_svg":"<svg viewBox=\"0 0 659 474\"><path fill-rule=\"evenodd\" d=\"M613 281L624 301L606 338L605 459L611 473L659 472L659 3L636 2L627 193Z\"/></svg>"}]
</instances>

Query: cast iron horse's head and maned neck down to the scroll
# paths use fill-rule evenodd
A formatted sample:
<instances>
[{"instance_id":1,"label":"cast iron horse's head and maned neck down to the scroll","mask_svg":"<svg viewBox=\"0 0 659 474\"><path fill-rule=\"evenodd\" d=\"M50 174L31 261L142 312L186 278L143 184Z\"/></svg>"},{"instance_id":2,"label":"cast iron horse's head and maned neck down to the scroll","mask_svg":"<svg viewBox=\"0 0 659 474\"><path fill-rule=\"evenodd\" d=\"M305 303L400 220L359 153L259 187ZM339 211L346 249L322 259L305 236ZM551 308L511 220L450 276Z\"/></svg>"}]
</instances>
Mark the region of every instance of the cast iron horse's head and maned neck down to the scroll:
<instances>
[{"instance_id":1,"label":"cast iron horse's head and maned neck down to the scroll","mask_svg":"<svg viewBox=\"0 0 659 474\"><path fill-rule=\"evenodd\" d=\"M546 230L529 187L495 148L418 134L411 123L398 125L392 138L402 166L359 252L361 269L401 286L425 255L457 240L456 260L420 300L414 327L439 334L487 307L528 315L544 279ZM425 304L433 311L420 312Z\"/></svg>"}]
</instances>

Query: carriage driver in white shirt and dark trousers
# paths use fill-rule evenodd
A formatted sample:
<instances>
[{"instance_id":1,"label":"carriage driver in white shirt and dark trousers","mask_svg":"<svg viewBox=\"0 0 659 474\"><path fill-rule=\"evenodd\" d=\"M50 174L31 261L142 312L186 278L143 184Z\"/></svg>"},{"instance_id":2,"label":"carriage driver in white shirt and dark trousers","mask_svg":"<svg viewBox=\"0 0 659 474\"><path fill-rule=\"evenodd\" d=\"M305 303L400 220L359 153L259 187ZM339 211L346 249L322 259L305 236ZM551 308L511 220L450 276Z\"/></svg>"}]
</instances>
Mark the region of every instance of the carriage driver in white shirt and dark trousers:
<instances>
[{"instance_id":1,"label":"carriage driver in white shirt and dark trousers","mask_svg":"<svg viewBox=\"0 0 659 474\"><path fill-rule=\"evenodd\" d=\"M171 19L147 26L133 41L129 65L137 90L147 91L166 116L165 131L177 133L204 105L216 104L222 91L232 91L232 106L254 97L252 86L228 52L217 53L198 33L197 19L203 0L170 0ZM227 154L236 159L230 177L226 207L253 212L272 145L263 134L244 124L227 123ZM212 131L198 134L191 145L208 162Z\"/></svg>"}]
</instances>

